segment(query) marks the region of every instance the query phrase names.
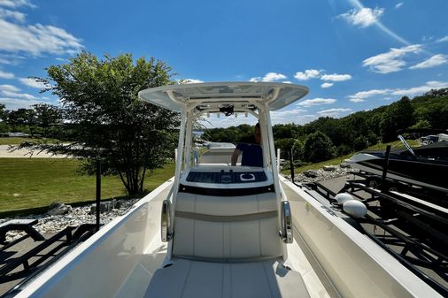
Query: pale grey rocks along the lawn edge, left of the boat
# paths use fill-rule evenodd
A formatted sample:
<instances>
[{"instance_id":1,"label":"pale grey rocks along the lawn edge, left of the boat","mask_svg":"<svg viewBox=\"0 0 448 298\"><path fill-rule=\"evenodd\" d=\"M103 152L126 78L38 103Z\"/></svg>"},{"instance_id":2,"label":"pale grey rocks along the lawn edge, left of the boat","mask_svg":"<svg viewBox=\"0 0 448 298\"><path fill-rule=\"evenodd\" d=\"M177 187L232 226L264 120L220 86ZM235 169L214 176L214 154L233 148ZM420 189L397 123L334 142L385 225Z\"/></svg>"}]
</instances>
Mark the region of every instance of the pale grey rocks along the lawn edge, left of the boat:
<instances>
[{"instance_id":1,"label":"pale grey rocks along the lawn edge, left of the boat","mask_svg":"<svg viewBox=\"0 0 448 298\"><path fill-rule=\"evenodd\" d=\"M100 215L100 221L106 225L112 221L113 218L124 215L138 199L133 200L117 200L113 203L113 209L106 208L105 212ZM109 204L107 204L109 207ZM112 205L112 203L111 203ZM103 209L103 208L102 208ZM94 212L91 212L94 210ZM78 226L81 224L95 224L97 221L95 208L92 205L81 207L72 207L63 203L52 203L49 207L49 212L45 214L29 215L26 218L39 219L39 222L34 225L37 232L42 234L58 233L66 228L66 226ZM3 218L1 222L12 218ZM6 233L6 241L13 241L25 233L23 232L8 232Z\"/></svg>"}]
</instances>

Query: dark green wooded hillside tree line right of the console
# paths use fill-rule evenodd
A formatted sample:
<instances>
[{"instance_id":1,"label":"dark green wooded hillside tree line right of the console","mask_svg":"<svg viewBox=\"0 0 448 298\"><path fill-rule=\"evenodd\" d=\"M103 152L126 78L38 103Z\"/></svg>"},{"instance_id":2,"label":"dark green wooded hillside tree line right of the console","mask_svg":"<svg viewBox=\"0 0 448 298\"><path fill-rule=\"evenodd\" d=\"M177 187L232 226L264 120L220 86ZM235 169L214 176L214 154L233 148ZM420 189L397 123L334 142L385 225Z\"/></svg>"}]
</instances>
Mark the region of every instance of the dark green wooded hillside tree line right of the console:
<instances>
[{"instance_id":1,"label":"dark green wooded hillside tree line right of the console","mask_svg":"<svg viewBox=\"0 0 448 298\"><path fill-rule=\"evenodd\" d=\"M303 126L273 126L275 147L282 158L316 163L366 149L379 141L397 140L397 130L406 128L448 128L448 88L434 89L410 99L403 96L371 111L358 111L344 118L321 117ZM212 128L208 141L238 142L253 134L248 125Z\"/></svg>"}]
</instances>

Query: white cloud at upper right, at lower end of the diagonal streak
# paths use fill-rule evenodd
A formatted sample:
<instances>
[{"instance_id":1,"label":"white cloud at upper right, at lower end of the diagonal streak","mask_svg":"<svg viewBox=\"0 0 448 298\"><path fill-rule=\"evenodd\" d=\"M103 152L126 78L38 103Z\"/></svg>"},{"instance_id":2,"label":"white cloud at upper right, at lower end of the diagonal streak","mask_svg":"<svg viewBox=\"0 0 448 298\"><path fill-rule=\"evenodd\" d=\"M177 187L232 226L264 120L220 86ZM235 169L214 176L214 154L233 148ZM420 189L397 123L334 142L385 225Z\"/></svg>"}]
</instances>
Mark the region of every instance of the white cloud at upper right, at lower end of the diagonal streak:
<instances>
[{"instance_id":1,"label":"white cloud at upper right, at lower end of the diagonal streak","mask_svg":"<svg viewBox=\"0 0 448 298\"><path fill-rule=\"evenodd\" d=\"M394 73L402 70L406 66L404 57L408 54L421 52L421 44L412 44L400 49L391 48L388 52L368 57L362 62L363 66L368 66L375 73Z\"/></svg>"}]
</instances>

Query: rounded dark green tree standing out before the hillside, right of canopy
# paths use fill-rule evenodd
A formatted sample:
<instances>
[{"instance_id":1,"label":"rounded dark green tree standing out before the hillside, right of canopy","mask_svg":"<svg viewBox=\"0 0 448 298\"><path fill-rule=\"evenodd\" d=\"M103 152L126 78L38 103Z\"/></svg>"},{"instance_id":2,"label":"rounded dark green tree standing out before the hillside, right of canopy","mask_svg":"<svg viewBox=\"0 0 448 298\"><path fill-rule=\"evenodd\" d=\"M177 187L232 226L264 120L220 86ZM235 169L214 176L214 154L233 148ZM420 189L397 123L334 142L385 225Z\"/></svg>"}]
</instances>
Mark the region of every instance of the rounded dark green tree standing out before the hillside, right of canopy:
<instances>
[{"instance_id":1,"label":"rounded dark green tree standing out before the hillside, right of canopy","mask_svg":"<svg viewBox=\"0 0 448 298\"><path fill-rule=\"evenodd\" d=\"M318 163L336 157L336 148L327 134L317 131L306 137L304 157L306 161Z\"/></svg>"}]
</instances>

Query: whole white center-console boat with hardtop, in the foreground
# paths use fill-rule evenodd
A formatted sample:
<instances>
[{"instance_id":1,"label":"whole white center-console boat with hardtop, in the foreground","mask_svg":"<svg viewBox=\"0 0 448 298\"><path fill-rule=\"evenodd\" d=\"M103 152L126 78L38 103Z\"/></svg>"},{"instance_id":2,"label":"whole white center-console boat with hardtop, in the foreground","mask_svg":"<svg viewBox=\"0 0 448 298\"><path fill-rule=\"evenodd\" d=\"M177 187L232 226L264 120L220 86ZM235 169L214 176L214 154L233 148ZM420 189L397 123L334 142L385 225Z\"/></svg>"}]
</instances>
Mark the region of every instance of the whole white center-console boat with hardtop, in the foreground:
<instances>
[{"instance_id":1,"label":"whole white center-console boat with hardtop, in the foreground","mask_svg":"<svg viewBox=\"0 0 448 298\"><path fill-rule=\"evenodd\" d=\"M141 91L143 100L182 114L174 178L18 288L17 297L441 297L279 175L270 111L307 93L270 82ZM220 112L259 119L262 167L195 153L194 121Z\"/></svg>"}]
</instances>

